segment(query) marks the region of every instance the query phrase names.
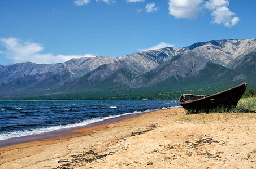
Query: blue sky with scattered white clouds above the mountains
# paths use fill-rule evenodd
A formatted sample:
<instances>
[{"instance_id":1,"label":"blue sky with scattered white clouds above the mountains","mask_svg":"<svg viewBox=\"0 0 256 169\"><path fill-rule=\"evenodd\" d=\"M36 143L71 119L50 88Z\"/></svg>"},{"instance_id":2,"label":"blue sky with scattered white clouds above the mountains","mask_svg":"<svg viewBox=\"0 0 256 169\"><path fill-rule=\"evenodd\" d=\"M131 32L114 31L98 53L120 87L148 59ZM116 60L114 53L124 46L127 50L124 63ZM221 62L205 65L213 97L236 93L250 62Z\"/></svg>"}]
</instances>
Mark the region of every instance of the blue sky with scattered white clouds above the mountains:
<instances>
[{"instance_id":1,"label":"blue sky with scattered white clouds above the mountains","mask_svg":"<svg viewBox=\"0 0 256 169\"><path fill-rule=\"evenodd\" d=\"M0 0L0 64L256 37L255 0Z\"/></svg>"}]
</instances>

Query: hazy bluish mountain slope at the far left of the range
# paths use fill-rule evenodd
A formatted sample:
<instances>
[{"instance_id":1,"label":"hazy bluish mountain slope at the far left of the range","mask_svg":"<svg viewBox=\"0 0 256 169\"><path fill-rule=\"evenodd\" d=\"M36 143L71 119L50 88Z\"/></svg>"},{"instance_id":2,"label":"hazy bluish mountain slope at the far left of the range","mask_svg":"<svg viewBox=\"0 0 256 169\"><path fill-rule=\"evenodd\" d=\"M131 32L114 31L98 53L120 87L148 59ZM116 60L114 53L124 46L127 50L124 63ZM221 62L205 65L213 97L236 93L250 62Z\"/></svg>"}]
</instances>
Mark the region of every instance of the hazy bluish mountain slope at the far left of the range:
<instances>
[{"instance_id":1,"label":"hazy bluish mountain slope at the far left of the range","mask_svg":"<svg viewBox=\"0 0 256 169\"><path fill-rule=\"evenodd\" d=\"M48 90L79 78L103 64L118 60L97 56L71 59L61 64L20 63L0 69L0 91ZM17 81L17 79L19 79Z\"/></svg>"}]
</instances>

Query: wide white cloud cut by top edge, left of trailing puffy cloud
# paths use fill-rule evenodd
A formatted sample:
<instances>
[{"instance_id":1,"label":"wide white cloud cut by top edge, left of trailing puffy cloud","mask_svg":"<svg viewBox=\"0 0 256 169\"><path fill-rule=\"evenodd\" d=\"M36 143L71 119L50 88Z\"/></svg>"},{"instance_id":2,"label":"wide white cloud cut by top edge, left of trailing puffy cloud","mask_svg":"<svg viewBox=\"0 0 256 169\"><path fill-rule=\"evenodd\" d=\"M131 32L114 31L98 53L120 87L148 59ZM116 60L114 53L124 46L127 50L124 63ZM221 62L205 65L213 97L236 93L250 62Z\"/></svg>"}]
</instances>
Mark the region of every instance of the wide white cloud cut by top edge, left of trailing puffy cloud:
<instances>
[{"instance_id":1,"label":"wide white cloud cut by top edge, left of trailing puffy cloud","mask_svg":"<svg viewBox=\"0 0 256 169\"><path fill-rule=\"evenodd\" d=\"M201 12L203 0L169 0L169 14L175 18L196 18Z\"/></svg>"}]
</instances>

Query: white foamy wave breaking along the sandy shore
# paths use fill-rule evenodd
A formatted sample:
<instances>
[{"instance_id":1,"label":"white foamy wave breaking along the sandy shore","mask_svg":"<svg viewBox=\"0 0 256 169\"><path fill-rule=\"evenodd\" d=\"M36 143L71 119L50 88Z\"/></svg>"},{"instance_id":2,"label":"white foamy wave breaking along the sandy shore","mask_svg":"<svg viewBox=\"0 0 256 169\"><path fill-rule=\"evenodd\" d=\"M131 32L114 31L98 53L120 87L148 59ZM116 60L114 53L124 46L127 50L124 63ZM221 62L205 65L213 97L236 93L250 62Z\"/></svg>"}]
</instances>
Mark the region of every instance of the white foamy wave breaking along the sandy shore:
<instances>
[{"instance_id":1,"label":"white foamy wave breaking along the sandy shore","mask_svg":"<svg viewBox=\"0 0 256 169\"><path fill-rule=\"evenodd\" d=\"M107 117L96 117L96 118L86 119L84 121L79 121L77 123L66 124L66 125L34 128L34 129L29 129L29 130L20 130L20 131L12 131L12 132L2 132L2 133L0 133L0 140L7 140L7 139L14 138L14 137L22 137L22 136L41 134L41 133L44 133L44 132L50 132L50 131L60 130L60 129L64 129L64 128L86 126L88 124L92 124L92 123L96 123L96 122L101 122L101 121L104 121L106 119L121 117L123 115L137 114L137 113L149 113L149 112L153 112L153 111L156 111L156 110L178 108L178 107L181 107L181 106L163 107L163 108L159 108L159 109L147 109L147 110L144 110L144 111L134 111L132 113L123 113L123 114L118 114L118 115L109 115Z\"/></svg>"}]
</instances>

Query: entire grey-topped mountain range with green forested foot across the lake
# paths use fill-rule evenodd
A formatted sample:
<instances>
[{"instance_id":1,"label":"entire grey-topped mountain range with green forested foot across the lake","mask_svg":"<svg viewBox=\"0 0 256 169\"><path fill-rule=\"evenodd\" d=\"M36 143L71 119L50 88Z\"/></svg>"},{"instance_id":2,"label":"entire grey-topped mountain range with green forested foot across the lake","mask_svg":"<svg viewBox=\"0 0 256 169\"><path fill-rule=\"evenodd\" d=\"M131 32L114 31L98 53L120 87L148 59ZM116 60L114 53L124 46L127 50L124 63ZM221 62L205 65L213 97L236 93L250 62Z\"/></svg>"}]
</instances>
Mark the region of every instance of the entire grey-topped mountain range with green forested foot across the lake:
<instances>
[{"instance_id":1,"label":"entire grey-topped mountain range with green forested foot across the lake","mask_svg":"<svg viewBox=\"0 0 256 169\"><path fill-rule=\"evenodd\" d=\"M172 92L173 97L160 99L177 99L174 92L189 88L198 94L203 91L211 94L217 88L224 90L241 82L248 82L249 87L255 88L255 77L256 38L218 40L123 57L84 57L58 64L0 65L0 97L102 99L104 95L104 99L134 99L133 95L146 94L145 99L150 99L151 94Z\"/></svg>"}]
</instances>

